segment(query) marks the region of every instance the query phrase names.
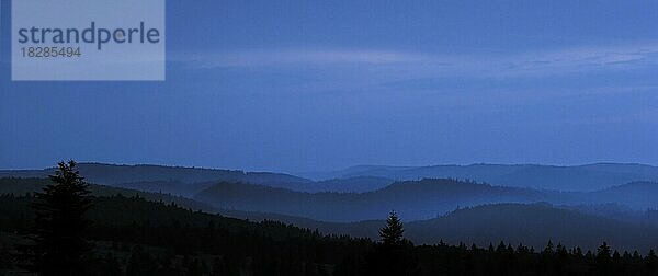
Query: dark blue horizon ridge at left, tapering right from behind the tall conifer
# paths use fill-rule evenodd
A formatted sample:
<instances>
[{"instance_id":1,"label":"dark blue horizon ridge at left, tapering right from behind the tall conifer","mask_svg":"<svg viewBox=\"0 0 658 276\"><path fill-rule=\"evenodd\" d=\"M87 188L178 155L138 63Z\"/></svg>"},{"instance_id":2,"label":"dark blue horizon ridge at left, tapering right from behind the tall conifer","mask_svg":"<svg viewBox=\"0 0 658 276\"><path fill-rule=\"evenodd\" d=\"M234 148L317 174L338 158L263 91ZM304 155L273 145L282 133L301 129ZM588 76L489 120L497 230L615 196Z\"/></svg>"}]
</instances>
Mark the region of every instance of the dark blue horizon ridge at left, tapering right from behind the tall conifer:
<instances>
[{"instance_id":1,"label":"dark blue horizon ridge at left, tapering right from behind the tall conifer","mask_svg":"<svg viewBox=\"0 0 658 276\"><path fill-rule=\"evenodd\" d=\"M148 164L116 165L79 163L78 170L84 175L86 180L91 183L155 193L171 193L188 197L191 197L220 181L260 184L309 193L362 193L385 187L394 182L389 179L376 176L355 176L314 182L284 173L243 172L235 170ZM44 170L0 170L0 177L45 179L54 172L54 168Z\"/></svg>"}]
</instances>

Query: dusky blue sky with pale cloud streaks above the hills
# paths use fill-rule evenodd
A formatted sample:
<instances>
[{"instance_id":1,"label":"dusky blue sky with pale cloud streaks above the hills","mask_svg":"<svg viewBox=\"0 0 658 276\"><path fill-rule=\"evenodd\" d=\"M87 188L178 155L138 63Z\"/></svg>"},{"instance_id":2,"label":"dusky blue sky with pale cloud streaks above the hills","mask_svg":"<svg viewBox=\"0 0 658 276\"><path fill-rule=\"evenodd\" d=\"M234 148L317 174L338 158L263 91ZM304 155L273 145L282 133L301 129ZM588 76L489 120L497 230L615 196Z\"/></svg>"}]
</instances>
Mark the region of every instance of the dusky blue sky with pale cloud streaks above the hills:
<instances>
[{"instance_id":1,"label":"dusky blue sky with pale cloud streaks above the hills","mask_svg":"<svg viewBox=\"0 0 658 276\"><path fill-rule=\"evenodd\" d=\"M0 169L658 164L658 1L169 0L163 82L13 82L7 12Z\"/></svg>"}]
</instances>

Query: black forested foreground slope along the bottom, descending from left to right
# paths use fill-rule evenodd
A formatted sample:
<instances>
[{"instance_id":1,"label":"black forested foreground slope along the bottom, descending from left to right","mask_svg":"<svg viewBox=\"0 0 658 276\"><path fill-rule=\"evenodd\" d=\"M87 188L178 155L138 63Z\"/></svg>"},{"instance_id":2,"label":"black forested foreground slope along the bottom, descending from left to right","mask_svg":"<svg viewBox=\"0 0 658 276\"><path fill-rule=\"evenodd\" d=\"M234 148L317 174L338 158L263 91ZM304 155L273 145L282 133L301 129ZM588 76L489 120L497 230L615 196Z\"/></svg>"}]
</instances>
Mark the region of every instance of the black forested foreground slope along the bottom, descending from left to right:
<instances>
[{"instance_id":1,"label":"black forested foreground slope along the bottom, descending from left to right","mask_svg":"<svg viewBox=\"0 0 658 276\"><path fill-rule=\"evenodd\" d=\"M21 265L26 261L16 252L25 244L21 237L34 218L29 208L32 200L0 196L0 273L25 273ZM87 256L84 269L93 275L366 276L386 275L373 272L390 262L404 264L410 275L419 276L658 273L655 253L617 253L608 245L588 252L557 241L535 249L506 241L492 241L488 248L401 243L392 254L385 245L367 239L322 235L272 221L249 222L144 198L93 197L92 203L86 217L93 223L86 233L93 252ZM416 231L413 228L409 225L408 232Z\"/></svg>"}]
</instances>

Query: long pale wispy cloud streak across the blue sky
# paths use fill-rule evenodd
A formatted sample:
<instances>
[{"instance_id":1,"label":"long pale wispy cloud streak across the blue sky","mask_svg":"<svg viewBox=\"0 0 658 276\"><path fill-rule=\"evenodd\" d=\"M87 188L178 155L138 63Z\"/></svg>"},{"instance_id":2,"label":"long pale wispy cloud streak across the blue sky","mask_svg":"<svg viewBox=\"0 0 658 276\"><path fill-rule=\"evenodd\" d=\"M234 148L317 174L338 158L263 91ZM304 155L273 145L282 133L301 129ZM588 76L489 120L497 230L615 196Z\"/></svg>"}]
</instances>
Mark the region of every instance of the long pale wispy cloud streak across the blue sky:
<instances>
[{"instance_id":1,"label":"long pale wispy cloud streak across the blue sky","mask_svg":"<svg viewBox=\"0 0 658 276\"><path fill-rule=\"evenodd\" d=\"M512 55L451 55L381 49L252 49L186 53L174 57L192 68L344 68L396 76L517 77L597 70L628 70L658 65L658 43L603 45ZM366 72L364 71L364 72Z\"/></svg>"}]
</instances>

